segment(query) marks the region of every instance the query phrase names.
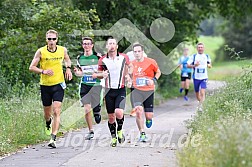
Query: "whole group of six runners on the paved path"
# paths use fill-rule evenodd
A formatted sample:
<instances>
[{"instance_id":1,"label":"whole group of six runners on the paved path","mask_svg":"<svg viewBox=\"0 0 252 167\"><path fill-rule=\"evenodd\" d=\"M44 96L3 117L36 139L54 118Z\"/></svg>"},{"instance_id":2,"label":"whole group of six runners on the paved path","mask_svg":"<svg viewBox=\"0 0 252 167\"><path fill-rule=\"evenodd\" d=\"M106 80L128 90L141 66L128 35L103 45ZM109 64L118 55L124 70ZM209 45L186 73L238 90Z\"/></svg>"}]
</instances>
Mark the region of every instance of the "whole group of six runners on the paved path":
<instances>
[{"instance_id":1,"label":"whole group of six runners on the paved path","mask_svg":"<svg viewBox=\"0 0 252 167\"><path fill-rule=\"evenodd\" d=\"M145 126L153 123L155 84L161 76L157 62L144 53L140 43L132 44L133 58L118 52L118 41L110 37L106 41L107 53L95 53L94 41L90 37L82 38L83 53L77 56L76 65L72 65L67 49L57 45L58 32L46 32L47 45L39 48L30 64L29 70L40 74L41 99L46 121L45 132L51 135L48 146L56 148L56 135L60 125L61 105L66 88L66 80L72 79L72 72L79 76L79 95L84 108L89 133L86 140L94 138L93 119L101 122L100 97L104 94L108 114L108 128L111 133L112 147L125 141L123 133L126 88L131 90L131 103L139 130L139 141L146 142ZM207 67L211 67L210 57L204 54L204 44L197 44L198 53L184 55L179 60L181 67L181 88L185 90L184 99L188 100L189 81L193 68L194 89L199 110L205 98ZM63 72L62 62L65 63ZM104 84L101 84L101 80ZM104 93L102 93L104 91ZM93 112L93 113L92 113Z\"/></svg>"}]
</instances>

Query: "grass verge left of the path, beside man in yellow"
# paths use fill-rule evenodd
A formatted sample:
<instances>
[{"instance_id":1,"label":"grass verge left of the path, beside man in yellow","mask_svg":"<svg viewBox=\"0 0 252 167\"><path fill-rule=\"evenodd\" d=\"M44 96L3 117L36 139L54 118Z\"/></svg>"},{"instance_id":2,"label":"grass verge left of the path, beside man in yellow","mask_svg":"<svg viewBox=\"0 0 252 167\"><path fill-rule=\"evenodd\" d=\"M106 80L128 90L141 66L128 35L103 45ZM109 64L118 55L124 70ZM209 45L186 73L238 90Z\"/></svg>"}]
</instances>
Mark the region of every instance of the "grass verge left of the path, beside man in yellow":
<instances>
[{"instance_id":1,"label":"grass verge left of the path, beside man in yellow","mask_svg":"<svg viewBox=\"0 0 252 167\"><path fill-rule=\"evenodd\" d=\"M62 111L76 101L65 98ZM75 110L81 108L76 107ZM50 138L44 132L45 121L38 85L23 87L22 90L20 86L14 86L12 95L0 99L0 116L0 156ZM84 120L77 121L72 127L77 126L85 126ZM62 130L60 129L60 132Z\"/></svg>"}]
</instances>

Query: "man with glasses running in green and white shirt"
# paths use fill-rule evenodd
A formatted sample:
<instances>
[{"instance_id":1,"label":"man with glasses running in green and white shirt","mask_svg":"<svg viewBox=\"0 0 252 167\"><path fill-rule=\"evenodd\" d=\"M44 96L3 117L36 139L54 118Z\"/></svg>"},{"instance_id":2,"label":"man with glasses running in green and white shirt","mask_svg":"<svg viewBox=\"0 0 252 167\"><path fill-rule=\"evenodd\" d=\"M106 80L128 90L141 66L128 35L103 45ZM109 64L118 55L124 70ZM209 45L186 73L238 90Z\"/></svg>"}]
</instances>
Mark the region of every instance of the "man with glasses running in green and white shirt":
<instances>
[{"instance_id":1,"label":"man with glasses running in green and white shirt","mask_svg":"<svg viewBox=\"0 0 252 167\"><path fill-rule=\"evenodd\" d=\"M94 44L92 38L84 37L82 39L82 47L84 53L77 57L77 67L74 68L74 71L75 75L82 77L79 93L81 103L84 105L85 119L89 129L85 139L90 140L94 137L91 109L93 110L95 122L97 124L101 122L100 96L102 87L100 79L97 79L98 60L100 57L93 52Z\"/></svg>"}]
</instances>

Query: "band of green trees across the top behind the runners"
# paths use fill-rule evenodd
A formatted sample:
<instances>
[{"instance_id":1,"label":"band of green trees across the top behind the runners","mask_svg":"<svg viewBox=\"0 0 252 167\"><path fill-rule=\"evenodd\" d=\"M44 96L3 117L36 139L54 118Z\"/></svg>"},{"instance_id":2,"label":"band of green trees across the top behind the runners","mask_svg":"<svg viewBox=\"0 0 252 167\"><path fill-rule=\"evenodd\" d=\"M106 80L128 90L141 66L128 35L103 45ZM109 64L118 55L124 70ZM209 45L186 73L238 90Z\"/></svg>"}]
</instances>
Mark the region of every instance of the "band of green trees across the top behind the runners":
<instances>
[{"instance_id":1,"label":"band of green trees across the top behind the runners","mask_svg":"<svg viewBox=\"0 0 252 167\"><path fill-rule=\"evenodd\" d=\"M202 20L216 13L239 21L251 13L248 2L238 0L2 0L0 2L0 94L5 96L11 86L28 86L38 82L38 75L28 71L35 51L45 45L45 32L59 32L59 45L68 48L73 59L82 51L81 37L88 29L109 29L121 18L129 19L146 37L149 27L159 17L170 19L176 33L167 43L153 43L165 54L182 41L197 42L197 30ZM122 40L120 47L129 42ZM168 93L177 86L175 73L163 75L160 90Z\"/></svg>"}]
</instances>

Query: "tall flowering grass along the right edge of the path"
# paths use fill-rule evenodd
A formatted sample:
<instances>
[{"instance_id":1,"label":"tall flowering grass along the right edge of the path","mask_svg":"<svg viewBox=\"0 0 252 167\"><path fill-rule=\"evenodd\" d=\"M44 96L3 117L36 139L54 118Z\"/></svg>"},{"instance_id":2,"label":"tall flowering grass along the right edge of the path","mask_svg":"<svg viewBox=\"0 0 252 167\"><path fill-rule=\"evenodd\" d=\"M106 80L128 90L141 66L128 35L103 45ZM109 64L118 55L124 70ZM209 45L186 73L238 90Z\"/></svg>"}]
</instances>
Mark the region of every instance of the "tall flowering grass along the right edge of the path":
<instances>
[{"instance_id":1,"label":"tall flowering grass along the right edge of the path","mask_svg":"<svg viewBox=\"0 0 252 167\"><path fill-rule=\"evenodd\" d=\"M201 136L198 147L178 153L183 167L252 166L252 72L229 82L208 97L204 112L188 127Z\"/></svg>"}]
</instances>

